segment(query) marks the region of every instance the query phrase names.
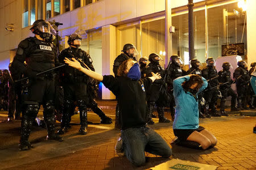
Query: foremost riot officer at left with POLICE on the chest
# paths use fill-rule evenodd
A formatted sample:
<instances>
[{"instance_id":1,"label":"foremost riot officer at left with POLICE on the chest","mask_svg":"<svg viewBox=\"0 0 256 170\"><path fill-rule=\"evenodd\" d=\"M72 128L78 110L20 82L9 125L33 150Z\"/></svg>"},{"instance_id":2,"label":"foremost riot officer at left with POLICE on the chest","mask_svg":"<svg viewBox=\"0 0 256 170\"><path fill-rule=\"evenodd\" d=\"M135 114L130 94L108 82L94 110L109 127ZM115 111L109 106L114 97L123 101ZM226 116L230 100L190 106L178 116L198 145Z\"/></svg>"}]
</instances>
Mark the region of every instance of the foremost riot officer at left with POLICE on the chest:
<instances>
[{"instance_id":1,"label":"foremost riot officer at left with POLICE on the chest","mask_svg":"<svg viewBox=\"0 0 256 170\"><path fill-rule=\"evenodd\" d=\"M23 89L22 105L22 130L19 143L20 150L29 150L32 145L28 137L32 128L32 122L38 114L40 105L43 104L44 121L48 131L47 139L63 141L55 134L55 107L53 105L55 87L53 73L36 74L52 69L58 64L56 48L52 44L55 30L45 20L36 20L31 31L35 37L28 37L18 45L13 67L24 76L28 77L28 83ZM24 61L27 65L24 66Z\"/></svg>"}]
</instances>

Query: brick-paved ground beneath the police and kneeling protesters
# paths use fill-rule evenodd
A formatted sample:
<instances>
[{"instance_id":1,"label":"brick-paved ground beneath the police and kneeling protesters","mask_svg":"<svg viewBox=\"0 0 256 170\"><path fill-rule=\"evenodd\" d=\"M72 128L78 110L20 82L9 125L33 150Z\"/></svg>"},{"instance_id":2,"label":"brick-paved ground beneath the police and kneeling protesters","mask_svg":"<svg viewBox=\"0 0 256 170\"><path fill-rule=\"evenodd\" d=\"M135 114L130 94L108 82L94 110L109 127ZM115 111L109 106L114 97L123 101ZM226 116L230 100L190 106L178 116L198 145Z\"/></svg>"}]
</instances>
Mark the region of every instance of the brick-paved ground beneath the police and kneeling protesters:
<instances>
[{"instance_id":1,"label":"brick-paved ground beneath the police and kneeling protesters","mask_svg":"<svg viewBox=\"0 0 256 170\"><path fill-rule=\"evenodd\" d=\"M100 101L104 112L114 119L115 102ZM166 113L170 118L170 113ZM39 113L42 116L42 113ZM79 115L72 117L72 128L63 135L64 142L46 141L46 129L34 127L30 141L35 148L19 151L20 121L7 123L7 113L0 112L0 169L148 169L169 159L146 154L144 167L133 167L125 158L119 158L114 145L119 130L111 125L89 125L88 134L80 135ZM92 112L88 120L99 123ZM172 123L150 125L170 145L174 138ZM217 146L201 151L173 146L172 158L217 165L218 169L256 169L256 134L253 133L256 118L229 116L200 119L200 125L216 135ZM56 126L60 123L57 122ZM57 127L58 128L58 127Z\"/></svg>"}]
</instances>

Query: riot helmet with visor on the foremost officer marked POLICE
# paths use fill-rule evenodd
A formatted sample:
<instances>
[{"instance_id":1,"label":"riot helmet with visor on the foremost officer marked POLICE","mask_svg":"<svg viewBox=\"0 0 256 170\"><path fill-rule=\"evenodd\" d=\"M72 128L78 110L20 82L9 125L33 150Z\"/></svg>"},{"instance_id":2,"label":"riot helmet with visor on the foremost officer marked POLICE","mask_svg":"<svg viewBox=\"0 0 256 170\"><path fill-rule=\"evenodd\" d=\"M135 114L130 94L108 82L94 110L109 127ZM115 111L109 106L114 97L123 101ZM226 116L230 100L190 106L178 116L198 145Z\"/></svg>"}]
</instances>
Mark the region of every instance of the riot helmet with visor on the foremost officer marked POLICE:
<instances>
[{"instance_id":1,"label":"riot helmet with visor on the foremost officer marked POLICE","mask_svg":"<svg viewBox=\"0 0 256 170\"><path fill-rule=\"evenodd\" d=\"M49 22L43 19L36 20L30 28L32 33L39 35L44 41L53 41L56 37L56 31Z\"/></svg>"}]
</instances>

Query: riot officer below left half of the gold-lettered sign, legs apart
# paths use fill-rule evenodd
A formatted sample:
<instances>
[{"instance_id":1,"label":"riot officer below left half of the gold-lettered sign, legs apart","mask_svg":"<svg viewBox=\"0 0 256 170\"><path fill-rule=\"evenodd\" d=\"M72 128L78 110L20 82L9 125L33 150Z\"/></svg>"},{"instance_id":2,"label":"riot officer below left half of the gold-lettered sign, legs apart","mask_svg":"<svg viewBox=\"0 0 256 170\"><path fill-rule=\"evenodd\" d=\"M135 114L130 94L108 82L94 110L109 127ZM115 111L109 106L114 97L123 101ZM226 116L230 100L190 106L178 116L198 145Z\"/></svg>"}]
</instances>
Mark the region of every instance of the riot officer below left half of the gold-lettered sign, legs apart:
<instances>
[{"instance_id":1,"label":"riot officer below left half of the gold-lettered sign, legs apart","mask_svg":"<svg viewBox=\"0 0 256 170\"><path fill-rule=\"evenodd\" d=\"M228 114L225 111L225 102L226 97L231 96L231 108L230 111L238 111L236 108L236 100L237 100L237 94L232 90L231 84L233 83L233 80L230 77L230 63L224 62L222 63L222 70L218 72L218 82L220 82L220 91L221 91L221 103L220 103L220 114L222 116L228 116ZM223 84L225 83L225 84Z\"/></svg>"}]
</instances>

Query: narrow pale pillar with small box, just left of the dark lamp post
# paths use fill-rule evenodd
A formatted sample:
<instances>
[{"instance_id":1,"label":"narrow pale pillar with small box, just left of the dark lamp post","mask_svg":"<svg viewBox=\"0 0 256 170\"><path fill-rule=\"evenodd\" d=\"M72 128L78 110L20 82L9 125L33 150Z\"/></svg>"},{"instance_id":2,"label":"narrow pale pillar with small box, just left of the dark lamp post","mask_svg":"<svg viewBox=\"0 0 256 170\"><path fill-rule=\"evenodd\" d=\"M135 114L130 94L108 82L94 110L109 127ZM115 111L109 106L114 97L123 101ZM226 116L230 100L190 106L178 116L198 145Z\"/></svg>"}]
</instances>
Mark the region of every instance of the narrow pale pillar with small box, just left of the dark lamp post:
<instances>
[{"instance_id":1,"label":"narrow pale pillar with small box, just left of the dark lamp post","mask_svg":"<svg viewBox=\"0 0 256 170\"><path fill-rule=\"evenodd\" d=\"M170 33L170 27L172 25L172 7L171 0L166 0L166 67L168 66L169 58L172 55L172 34Z\"/></svg>"}]
</instances>

